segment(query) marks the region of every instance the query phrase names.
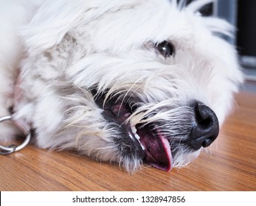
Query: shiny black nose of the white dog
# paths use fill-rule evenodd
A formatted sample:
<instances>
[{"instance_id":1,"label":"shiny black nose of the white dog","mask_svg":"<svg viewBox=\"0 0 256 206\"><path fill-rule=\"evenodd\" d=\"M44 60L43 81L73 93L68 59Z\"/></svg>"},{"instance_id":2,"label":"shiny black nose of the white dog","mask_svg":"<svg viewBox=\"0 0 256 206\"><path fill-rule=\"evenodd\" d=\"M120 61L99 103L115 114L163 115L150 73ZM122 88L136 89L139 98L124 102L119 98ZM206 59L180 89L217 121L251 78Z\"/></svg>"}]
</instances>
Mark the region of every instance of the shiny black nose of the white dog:
<instances>
[{"instance_id":1,"label":"shiny black nose of the white dog","mask_svg":"<svg viewBox=\"0 0 256 206\"><path fill-rule=\"evenodd\" d=\"M187 143L192 149L207 147L215 141L218 136L218 118L215 113L201 102L193 102L195 111L195 123L190 132Z\"/></svg>"}]
</instances>

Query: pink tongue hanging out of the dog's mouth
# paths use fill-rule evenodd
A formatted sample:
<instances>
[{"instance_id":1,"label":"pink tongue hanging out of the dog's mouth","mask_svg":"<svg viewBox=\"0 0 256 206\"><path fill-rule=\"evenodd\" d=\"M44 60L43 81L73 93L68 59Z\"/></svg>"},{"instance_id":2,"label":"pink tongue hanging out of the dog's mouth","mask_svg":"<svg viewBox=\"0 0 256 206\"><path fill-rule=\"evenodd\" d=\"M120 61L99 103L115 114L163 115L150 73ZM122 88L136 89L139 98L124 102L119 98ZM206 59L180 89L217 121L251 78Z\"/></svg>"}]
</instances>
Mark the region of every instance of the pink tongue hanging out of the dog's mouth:
<instances>
[{"instance_id":1,"label":"pink tongue hanging out of the dog's mouth","mask_svg":"<svg viewBox=\"0 0 256 206\"><path fill-rule=\"evenodd\" d=\"M145 163L164 171L170 171L173 158L167 138L160 132L152 135L152 131L145 131L145 129L137 129L137 133L140 137L139 141L145 147Z\"/></svg>"}]
</instances>

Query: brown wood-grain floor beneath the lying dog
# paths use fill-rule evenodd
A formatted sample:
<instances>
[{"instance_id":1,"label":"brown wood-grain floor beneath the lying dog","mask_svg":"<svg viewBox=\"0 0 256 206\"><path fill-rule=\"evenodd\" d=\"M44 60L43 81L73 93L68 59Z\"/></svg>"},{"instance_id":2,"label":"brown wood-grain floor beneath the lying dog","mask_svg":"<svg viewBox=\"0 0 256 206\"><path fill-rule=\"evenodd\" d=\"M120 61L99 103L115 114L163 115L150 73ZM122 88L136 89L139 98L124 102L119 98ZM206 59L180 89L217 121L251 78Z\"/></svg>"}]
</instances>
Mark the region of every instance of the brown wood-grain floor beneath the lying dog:
<instances>
[{"instance_id":1,"label":"brown wood-grain floor beneath the lying dog","mask_svg":"<svg viewBox=\"0 0 256 206\"><path fill-rule=\"evenodd\" d=\"M0 156L0 191L256 191L256 94L236 96L211 154L189 167L128 174L67 152L33 146Z\"/></svg>"}]
</instances>

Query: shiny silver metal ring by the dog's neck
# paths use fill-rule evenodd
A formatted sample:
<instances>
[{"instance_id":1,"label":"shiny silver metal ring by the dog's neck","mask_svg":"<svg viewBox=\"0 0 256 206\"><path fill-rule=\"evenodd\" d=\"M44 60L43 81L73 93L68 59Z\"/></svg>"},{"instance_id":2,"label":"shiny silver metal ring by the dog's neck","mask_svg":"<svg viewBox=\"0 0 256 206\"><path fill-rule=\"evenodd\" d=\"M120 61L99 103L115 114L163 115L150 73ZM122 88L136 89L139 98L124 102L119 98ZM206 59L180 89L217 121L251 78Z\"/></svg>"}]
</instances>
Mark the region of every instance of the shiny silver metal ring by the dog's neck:
<instances>
[{"instance_id":1,"label":"shiny silver metal ring by the dog's neck","mask_svg":"<svg viewBox=\"0 0 256 206\"><path fill-rule=\"evenodd\" d=\"M0 122L8 121L8 120L13 121L12 116L4 116L4 117L0 118ZM27 134L24 134L24 135L26 135L26 139L19 146L15 146L15 145L1 146L0 145L0 150L2 150L0 152L0 154L10 154L10 153L13 153L13 152L17 152L17 151L23 149L25 146L27 146L27 144L30 142L31 133L28 132Z\"/></svg>"}]
</instances>

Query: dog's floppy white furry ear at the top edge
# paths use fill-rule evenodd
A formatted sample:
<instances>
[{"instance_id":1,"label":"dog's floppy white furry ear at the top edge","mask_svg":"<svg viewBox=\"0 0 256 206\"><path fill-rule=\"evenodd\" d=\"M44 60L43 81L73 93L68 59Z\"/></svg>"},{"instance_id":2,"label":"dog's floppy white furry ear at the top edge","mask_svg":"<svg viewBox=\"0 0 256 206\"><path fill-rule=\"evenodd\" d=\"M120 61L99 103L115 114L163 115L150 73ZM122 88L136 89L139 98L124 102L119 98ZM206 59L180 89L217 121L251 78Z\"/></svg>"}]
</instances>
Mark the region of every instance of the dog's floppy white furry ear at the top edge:
<instances>
[{"instance_id":1,"label":"dog's floppy white furry ear at the top edge","mask_svg":"<svg viewBox=\"0 0 256 206\"><path fill-rule=\"evenodd\" d=\"M111 0L46 1L30 24L20 29L19 34L24 39L28 52L38 54L60 43L70 29L87 24L106 12L128 6L131 2L114 1L113 5Z\"/></svg>"}]
</instances>

